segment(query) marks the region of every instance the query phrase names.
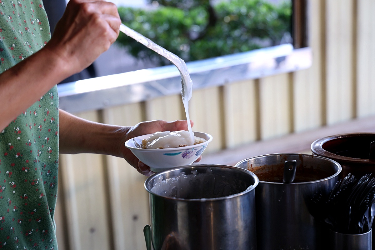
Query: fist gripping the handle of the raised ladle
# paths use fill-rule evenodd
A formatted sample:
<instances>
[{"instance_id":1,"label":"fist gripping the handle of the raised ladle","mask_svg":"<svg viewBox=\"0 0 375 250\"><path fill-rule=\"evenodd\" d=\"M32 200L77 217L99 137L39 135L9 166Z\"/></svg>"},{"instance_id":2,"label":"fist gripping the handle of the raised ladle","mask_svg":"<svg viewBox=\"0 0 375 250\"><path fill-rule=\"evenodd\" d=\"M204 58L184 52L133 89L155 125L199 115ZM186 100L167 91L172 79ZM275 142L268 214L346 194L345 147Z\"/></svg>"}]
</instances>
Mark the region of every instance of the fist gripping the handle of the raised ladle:
<instances>
[{"instance_id":1,"label":"fist gripping the handle of the raised ladle","mask_svg":"<svg viewBox=\"0 0 375 250\"><path fill-rule=\"evenodd\" d=\"M102 0L70 0L45 46L63 60L67 76L85 69L115 42L121 20L117 7Z\"/></svg>"}]
</instances>

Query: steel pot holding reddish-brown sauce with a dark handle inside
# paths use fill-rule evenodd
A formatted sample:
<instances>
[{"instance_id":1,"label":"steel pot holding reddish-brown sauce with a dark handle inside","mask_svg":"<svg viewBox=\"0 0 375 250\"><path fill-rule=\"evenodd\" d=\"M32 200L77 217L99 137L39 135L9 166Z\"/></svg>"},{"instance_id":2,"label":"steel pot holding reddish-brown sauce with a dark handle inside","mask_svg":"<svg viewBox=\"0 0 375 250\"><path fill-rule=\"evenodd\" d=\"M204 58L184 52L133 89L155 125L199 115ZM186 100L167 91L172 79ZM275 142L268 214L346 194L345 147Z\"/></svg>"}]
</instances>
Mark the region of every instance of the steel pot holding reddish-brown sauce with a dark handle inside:
<instances>
[{"instance_id":1,"label":"steel pot holding reddish-brown sauce with a dark handle inside","mask_svg":"<svg viewBox=\"0 0 375 250\"><path fill-rule=\"evenodd\" d=\"M294 183L283 183L285 161L296 160ZM312 200L326 195L338 180L341 166L308 154L269 154L236 166L259 178L255 189L258 250L322 249L319 223L311 214Z\"/></svg>"}]
</instances>

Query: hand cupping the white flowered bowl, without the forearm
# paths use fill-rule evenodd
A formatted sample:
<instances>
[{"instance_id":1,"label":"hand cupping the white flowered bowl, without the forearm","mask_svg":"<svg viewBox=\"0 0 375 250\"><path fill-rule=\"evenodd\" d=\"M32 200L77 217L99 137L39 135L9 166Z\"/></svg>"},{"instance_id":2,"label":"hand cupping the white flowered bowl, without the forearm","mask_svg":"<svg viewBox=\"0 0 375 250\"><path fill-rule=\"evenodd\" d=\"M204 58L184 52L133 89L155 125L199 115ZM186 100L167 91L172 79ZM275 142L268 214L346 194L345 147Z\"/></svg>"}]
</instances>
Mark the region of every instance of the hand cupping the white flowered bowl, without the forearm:
<instances>
[{"instance_id":1,"label":"hand cupping the white flowered bowl, without the forearm","mask_svg":"<svg viewBox=\"0 0 375 250\"><path fill-rule=\"evenodd\" d=\"M193 121L190 121L191 126L194 125ZM125 158L126 161L132 165L135 169L138 170L139 173L150 176L154 174L150 170L150 167L139 161L135 155L124 146L124 143L131 138L140 135L147 135L150 133L155 133L158 131L178 131L178 130L187 130L187 122L186 120L176 120L176 121L163 121L163 120L154 120L154 121L145 121L136 124L133 127L130 127L125 133L123 138L120 141L120 156ZM201 156L195 161L199 162L202 159Z\"/></svg>"}]
</instances>

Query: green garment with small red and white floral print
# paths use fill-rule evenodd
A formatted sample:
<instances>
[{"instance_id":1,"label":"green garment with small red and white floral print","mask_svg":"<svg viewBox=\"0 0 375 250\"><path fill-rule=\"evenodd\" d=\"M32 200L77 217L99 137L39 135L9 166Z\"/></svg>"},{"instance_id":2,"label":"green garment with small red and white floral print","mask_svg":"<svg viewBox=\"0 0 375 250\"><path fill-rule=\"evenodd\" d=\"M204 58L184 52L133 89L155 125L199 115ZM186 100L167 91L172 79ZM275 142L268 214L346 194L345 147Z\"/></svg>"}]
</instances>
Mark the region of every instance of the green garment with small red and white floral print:
<instances>
[{"instance_id":1,"label":"green garment with small red and white floral print","mask_svg":"<svg viewBox=\"0 0 375 250\"><path fill-rule=\"evenodd\" d=\"M0 73L43 48L49 32L41 0L0 0ZM56 86L1 129L0 249L56 250Z\"/></svg>"}]
</instances>

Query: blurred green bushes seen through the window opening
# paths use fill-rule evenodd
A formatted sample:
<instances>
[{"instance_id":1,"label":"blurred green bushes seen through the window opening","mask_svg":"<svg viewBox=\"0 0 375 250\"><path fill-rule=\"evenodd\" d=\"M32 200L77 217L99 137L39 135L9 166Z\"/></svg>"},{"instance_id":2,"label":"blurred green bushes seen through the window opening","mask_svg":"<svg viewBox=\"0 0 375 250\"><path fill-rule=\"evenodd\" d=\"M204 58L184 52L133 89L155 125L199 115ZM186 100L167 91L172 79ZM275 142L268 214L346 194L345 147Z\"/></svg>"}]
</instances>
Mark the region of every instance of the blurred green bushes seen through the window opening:
<instances>
[{"instance_id":1,"label":"blurred green bushes seen through the window opening","mask_svg":"<svg viewBox=\"0 0 375 250\"><path fill-rule=\"evenodd\" d=\"M119 7L125 25L185 61L249 51L280 43L291 30L291 3L276 6L264 0L231 0L211 6L208 1L159 0L156 9ZM206 4L202 4L206 3ZM177 8L178 6L181 8ZM131 55L168 64L160 55L120 34L117 42Z\"/></svg>"}]
</instances>

